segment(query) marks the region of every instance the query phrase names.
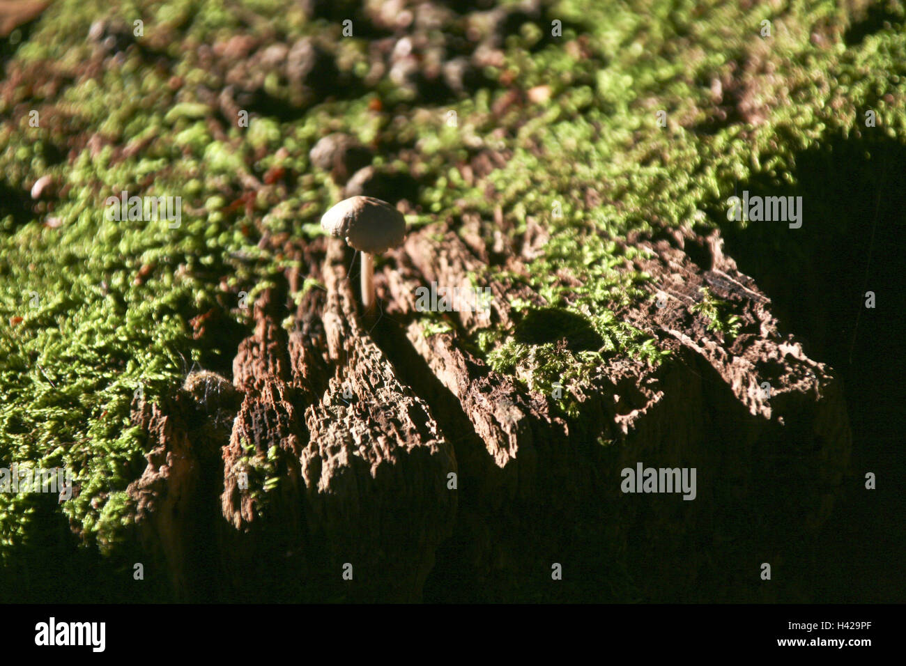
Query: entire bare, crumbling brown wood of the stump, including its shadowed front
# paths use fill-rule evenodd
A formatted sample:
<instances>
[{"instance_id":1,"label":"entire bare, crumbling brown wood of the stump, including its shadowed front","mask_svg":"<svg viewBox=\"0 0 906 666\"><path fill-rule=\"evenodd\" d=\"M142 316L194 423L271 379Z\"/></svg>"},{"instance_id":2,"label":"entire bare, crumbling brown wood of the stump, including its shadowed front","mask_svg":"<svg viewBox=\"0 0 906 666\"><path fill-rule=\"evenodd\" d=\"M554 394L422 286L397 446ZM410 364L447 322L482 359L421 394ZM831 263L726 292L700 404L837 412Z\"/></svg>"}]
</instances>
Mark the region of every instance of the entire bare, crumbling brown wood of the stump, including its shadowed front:
<instances>
[{"instance_id":1,"label":"entire bare, crumbling brown wood of the stump, including its shadowed front","mask_svg":"<svg viewBox=\"0 0 906 666\"><path fill-rule=\"evenodd\" d=\"M185 555L198 530L213 535L229 599L776 600L775 588L751 584L757 565L807 565L790 544L814 535L846 472L832 372L777 333L770 301L718 236L665 233L633 243L651 250L634 267L666 304L617 314L670 358L607 359L568 417L466 342L488 325L514 330L513 298L545 306L518 282L487 284L484 270L493 261L525 273L544 229L486 248L481 224L467 221L475 228L461 238L446 229L441 242L437 226L410 233L375 275L384 306L370 330L342 242L304 248L306 271L255 304L233 369L242 403L215 464L181 425L182 408L140 406L155 446L130 494L146 542L170 554L174 584L199 579ZM284 331L287 294L306 275L324 288L304 294ZM450 313L455 332L428 334L416 290L431 282L489 288L490 318ZM736 338L691 309L706 285L740 317ZM639 462L696 468L696 498L623 493L622 469ZM219 503L203 496L205 475L222 481ZM201 506L216 514L210 525L188 522ZM554 564L569 574L552 587ZM733 589L743 592L731 599Z\"/></svg>"}]
</instances>

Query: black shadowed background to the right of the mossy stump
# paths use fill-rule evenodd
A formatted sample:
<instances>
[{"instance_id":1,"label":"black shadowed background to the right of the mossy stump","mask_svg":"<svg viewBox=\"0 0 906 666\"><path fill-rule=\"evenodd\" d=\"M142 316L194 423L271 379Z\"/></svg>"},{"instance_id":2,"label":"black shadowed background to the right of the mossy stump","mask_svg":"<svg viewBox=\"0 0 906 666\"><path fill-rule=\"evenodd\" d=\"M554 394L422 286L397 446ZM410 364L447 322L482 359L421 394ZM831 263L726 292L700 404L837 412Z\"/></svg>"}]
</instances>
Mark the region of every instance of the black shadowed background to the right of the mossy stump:
<instances>
[{"instance_id":1,"label":"black shadowed background to the right of the mossy stump","mask_svg":"<svg viewBox=\"0 0 906 666\"><path fill-rule=\"evenodd\" d=\"M895 372L906 330L906 147L882 130L863 132L867 138L836 137L797 155L795 186L769 178L739 184L740 196L745 189L801 196L801 228L750 222L725 229L728 255L773 300L782 333L794 333L843 381L851 475L815 545L823 556L796 573L811 582L814 602L901 601L906 584L906 393ZM713 212L726 216L719 206ZM866 307L867 292L876 307ZM876 490L865 488L868 472L877 475Z\"/></svg>"}]
</instances>

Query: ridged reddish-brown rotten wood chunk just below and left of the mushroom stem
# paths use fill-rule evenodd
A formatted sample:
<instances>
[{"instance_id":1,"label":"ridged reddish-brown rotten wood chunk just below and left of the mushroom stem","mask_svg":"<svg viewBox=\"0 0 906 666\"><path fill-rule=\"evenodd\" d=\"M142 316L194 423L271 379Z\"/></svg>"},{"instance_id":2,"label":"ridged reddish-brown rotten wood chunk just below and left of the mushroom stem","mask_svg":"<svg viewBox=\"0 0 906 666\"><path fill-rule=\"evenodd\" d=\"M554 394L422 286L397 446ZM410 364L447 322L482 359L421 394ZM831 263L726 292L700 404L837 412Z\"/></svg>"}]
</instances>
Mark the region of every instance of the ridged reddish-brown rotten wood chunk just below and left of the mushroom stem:
<instances>
[{"instance_id":1,"label":"ridged reddish-brown rotten wood chunk just below and left of the mushroom stem","mask_svg":"<svg viewBox=\"0 0 906 666\"><path fill-rule=\"evenodd\" d=\"M271 292L255 306L255 335L234 363L246 401L224 452L223 514L234 528L231 543L240 542L233 552L254 551L238 535L254 543L255 524L264 522L260 529L284 545L296 537L290 552L313 551L299 555L304 577L333 575L341 583L344 571L352 574L345 591L328 586L333 594L417 599L452 530L457 500L448 475L457 462L428 404L396 379L362 329L343 247L329 244L325 297L309 301L320 306L320 325L310 312L309 330L280 329L284 294ZM248 446L259 458L274 447L281 452L271 454L278 463L269 477L279 479L273 498L238 487ZM237 584L254 557L231 567Z\"/></svg>"}]
</instances>

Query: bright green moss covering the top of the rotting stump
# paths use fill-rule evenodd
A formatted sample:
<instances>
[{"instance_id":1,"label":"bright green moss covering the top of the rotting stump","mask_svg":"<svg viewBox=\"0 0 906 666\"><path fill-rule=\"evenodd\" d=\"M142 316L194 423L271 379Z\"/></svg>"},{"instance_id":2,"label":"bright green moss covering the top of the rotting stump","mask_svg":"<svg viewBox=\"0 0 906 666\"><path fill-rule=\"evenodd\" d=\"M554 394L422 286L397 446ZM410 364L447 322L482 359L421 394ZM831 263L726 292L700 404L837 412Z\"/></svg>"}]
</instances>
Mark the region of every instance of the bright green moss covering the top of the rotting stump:
<instances>
[{"instance_id":1,"label":"bright green moss covering the top of the rotting stump","mask_svg":"<svg viewBox=\"0 0 906 666\"><path fill-rule=\"evenodd\" d=\"M193 365L228 370L249 329L240 292L254 301L289 263L259 241L318 234L340 196L308 158L331 131L357 136L375 164L416 180L413 226L465 213L492 220L499 208L509 233L533 217L550 233L527 275L507 277L572 314L580 336L600 345L525 342L528 317L544 317L525 303L515 304L528 315L521 330L474 341L497 370L545 391L581 381L601 353L662 358L612 314L648 297L637 286L646 276L621 270L631 257L615 240L730 224L724 202L738 183L795 186L795 155L829 135L906 138L897 3L563 0L505 35L504 62L486 68L485 83L439 99L413 99L388 75L369 75L369 43L386 33L365 21L342 37L338 20L310 20L298 4L219 5L56 2L4 40L0 464L65 466L79 487L59 508L55 497L0 494L6 573L46 550L44 528L60 511L88 551L116 550L124 491L147 446L130 425L135 391L153 400ZM114 14L129 25L141 18L144 34L129 30L120 53L101 53L87 35ZM443 30L465 34L466 19L454 16ZM562 37L549 36L553 19ZM199 92L226 85L219 47L236 34L264 46L312 35L335 58L337 90L309 99L270 72L249 126L237 127ZM877 127L865 127L865 111ZM506 155L506 165L469 184L458 166L483 152ZM33 201L43 176L53 187ZM255 179L260 188L249 186ZM181 225L105 219L104 200L122 190L182 197ZM221 334L204 333L211 313Z\"/></svg>"}]
</instances>

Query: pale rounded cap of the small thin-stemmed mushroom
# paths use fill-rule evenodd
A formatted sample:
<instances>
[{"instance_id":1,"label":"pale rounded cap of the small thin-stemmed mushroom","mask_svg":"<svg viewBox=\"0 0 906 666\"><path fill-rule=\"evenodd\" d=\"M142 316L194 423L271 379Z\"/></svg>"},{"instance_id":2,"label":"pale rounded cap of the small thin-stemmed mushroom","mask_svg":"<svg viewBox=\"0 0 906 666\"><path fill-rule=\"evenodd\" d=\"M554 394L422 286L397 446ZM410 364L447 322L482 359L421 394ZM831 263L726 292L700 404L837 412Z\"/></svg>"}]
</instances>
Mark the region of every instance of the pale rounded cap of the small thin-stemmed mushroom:
<instances>
[{"instance_id":1,"label":"pale rounded cap of the small thin-stemmed mushroom","mask_svg":"<svg viewBox=\"0 0 906 666\"><path fill-rule=\"evenodd\" d=\"M379 254L399 246L406 236L406 218L379 198L343 199L323 214L321 228L362 252Z\"/></svg>"}]
</instances>

